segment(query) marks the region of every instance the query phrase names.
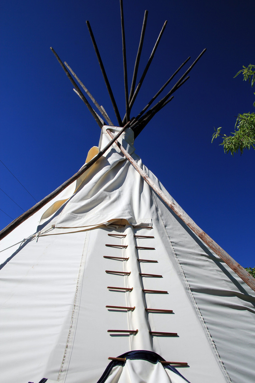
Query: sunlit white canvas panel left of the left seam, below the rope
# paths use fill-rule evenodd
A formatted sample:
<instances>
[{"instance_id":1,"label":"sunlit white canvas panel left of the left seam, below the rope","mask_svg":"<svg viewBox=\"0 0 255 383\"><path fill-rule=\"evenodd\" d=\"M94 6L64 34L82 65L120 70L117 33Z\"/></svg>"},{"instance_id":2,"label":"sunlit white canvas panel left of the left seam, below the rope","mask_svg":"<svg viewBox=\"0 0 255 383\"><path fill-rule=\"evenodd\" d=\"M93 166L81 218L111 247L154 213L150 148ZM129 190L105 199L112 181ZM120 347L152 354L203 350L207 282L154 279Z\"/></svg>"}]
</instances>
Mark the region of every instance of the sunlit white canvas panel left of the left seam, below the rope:
<instances>
[{"instance_id":1,"label":"sunlit white canvas panel left of the left seam, below the rope","mask_svg":"<svg viewBox=\"0 0 255 383\"><path fill-rule=\"evenodd\" d=\"M75 297L84 233L39 237L24 246L0 272L1 381L57 378ZM68 323L66 326L66 322ZM61 345L61 357L52 351Z\"/></svg>"}]
</instances>

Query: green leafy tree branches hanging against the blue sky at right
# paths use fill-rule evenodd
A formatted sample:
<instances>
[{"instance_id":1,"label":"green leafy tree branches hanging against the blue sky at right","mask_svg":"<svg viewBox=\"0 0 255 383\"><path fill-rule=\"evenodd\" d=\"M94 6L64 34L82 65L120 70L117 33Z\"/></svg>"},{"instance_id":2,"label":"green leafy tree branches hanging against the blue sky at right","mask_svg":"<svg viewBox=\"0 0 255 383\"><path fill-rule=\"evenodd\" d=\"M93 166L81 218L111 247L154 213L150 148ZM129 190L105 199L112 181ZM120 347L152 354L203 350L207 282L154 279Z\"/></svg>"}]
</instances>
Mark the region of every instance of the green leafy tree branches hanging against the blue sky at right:
<instances>
[{"instance_id":1,"label":"green leafy tree branches hanging against the blue sky at right","mask_svg":"<svg viewBox=\"0 0 255 383\"><path fill-rule=\"evenodd\" d=\"M255 83L255 65L248 65L234 76L234 78L242 73L244 75L244 81L249 80L249 83ZM254 93L255 95L255 93ZM253 103L255 106L255 101ZM223 141L220 145L223 145L224 152L230 152L232 155L237 153L240 150L240 154L244 152L244 149L250 149L253 147L255 149L255 113L244 113L243 115L239 114L235 123L235 131L231 133L232 136L226 136L226 134L221 134L221 128L217 130L214 128L214 134L212 135L212 141L218 136L223 137Z\"/></svg>"}]
</instances>

